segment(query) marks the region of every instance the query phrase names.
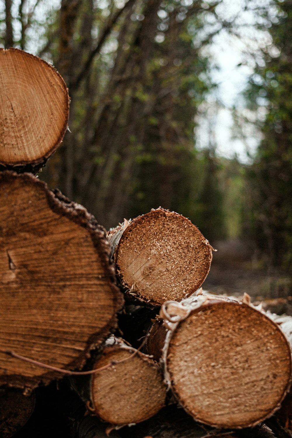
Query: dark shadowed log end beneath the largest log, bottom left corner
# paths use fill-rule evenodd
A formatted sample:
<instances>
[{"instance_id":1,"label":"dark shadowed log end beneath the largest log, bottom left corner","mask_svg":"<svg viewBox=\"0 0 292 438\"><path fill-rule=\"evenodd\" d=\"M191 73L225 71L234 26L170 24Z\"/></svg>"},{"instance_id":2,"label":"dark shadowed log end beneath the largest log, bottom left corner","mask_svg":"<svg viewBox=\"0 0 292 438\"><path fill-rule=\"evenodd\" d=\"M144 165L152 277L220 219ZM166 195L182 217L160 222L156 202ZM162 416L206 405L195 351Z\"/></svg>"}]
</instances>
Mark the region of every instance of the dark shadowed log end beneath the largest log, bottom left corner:
<instances>
[{"instance_id":1,"label":"dark shadowed log end beneath the largest log, bottom left corner","mask_svg":"<svg viewBox=\"0 0 292 438\"><path fill-rule=\"evenodd\" d=\"M21 429L34 406L34 392L25 396L19 389L0 388L0 437L10 438Z\"/></svg>"}]
</instances>

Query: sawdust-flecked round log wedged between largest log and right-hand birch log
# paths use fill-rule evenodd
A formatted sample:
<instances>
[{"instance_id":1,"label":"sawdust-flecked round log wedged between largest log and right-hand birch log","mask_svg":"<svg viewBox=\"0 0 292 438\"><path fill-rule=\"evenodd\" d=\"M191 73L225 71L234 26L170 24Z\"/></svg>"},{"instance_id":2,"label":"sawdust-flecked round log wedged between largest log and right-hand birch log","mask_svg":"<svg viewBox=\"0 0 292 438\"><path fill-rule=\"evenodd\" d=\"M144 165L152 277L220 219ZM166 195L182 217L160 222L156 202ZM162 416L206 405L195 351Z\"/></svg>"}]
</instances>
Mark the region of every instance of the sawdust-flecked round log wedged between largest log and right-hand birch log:
<instances>
[{"instance_id":1,"label":"sawdust-flecked round log wedged between largest log and right-hand birch log","mask_svg":"<svg viewBox=\"0 0 292 438\"><path fill-rule=\"evenodd\" d=\"M127 296L160 306L180 301L206 278L212 247L189 219L163 208L109 232L113 259Z\"/></svg>"}]
</instances>

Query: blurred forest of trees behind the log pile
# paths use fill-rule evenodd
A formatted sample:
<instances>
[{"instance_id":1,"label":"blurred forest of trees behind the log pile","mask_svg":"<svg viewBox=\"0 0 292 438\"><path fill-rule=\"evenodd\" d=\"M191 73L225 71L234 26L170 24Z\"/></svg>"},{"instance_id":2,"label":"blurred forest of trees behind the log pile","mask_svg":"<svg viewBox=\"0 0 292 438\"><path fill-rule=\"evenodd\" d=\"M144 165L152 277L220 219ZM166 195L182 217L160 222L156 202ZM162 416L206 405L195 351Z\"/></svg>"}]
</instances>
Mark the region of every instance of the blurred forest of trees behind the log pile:
<instances>
[{"instance_id":1,"label":"blurred forest of trees behind the log pile","mask_svg":"<svg viewBox=\"0 0 292 438\"><path fill-rule=\"evenodd\" d=\"M232 108L234 138L257 139L244 160L220 156L212 122L220 35L250 72ZM49 187L107 229L175 210L220 250L208 287L292 295L291 0L0 0L0 47L12 46L69 88L70 132L39 175Z\"/></svg>"}]
</instances>

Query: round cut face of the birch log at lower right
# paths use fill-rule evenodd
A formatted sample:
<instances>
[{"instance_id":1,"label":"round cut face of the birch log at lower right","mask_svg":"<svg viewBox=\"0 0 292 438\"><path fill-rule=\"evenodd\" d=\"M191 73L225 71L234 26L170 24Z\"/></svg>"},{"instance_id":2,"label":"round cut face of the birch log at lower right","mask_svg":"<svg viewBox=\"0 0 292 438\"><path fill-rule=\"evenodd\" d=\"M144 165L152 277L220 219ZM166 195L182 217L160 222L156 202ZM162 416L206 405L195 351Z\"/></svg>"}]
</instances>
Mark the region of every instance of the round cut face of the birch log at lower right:
<instances>
[{"instance_id":1,"label":"round cut face of the birch log at lower right","mask_svg":"<svg viewBox=\"0 0 292 438\"><path fill-rule=\"evenodd\" d=\"M214 427L260 423L279 408L291 380L291 351L281 330L234 302L206 304L181 321L166 364L182 406Z\"/></svg>"}]
</instances>

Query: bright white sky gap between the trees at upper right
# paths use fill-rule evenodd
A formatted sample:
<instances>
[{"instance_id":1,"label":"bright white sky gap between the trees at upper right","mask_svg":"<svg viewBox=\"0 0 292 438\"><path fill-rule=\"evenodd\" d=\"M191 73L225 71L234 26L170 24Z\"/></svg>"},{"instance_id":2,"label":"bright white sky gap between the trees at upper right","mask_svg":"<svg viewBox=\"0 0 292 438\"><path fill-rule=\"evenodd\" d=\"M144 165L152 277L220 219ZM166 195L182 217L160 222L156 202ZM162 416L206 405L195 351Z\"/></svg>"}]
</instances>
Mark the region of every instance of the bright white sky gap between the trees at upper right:
<instances>
[{"instance_id":1,"label":"bright white sky gap between the trees at upper right","mask_svg":"<svg viewBox=\"0 0 292 438\"><path fill-rule=\"evenodd\" d=\"M259 31L254 28L256 12L245 11L245 0L223 0L219 15L225 20L234 20L239 33L238 37L223 31L218 34L209 49L208 56L213 65L212 78L218 84L215 92L208 96L203 105L203 116L197 119L197 148L204 148L210 144L217 148L218 155L232 158L235 154L242 162L250 162L249 155L253 155L260 141L260 132L252 123L243 125L243 135L237 135L232 120L232 110L248 117L251 121L257 118L263 120L265 108L260 107L257 114L250 113L245 108L242 92L246 88L248 78L253 74L255 61L263 65L260 48L269 46L272 57L278 56L277 49L272 45L267 29ZM253 7L267 7L269 0L254 0ZM271 21L276 22L277 11L270 7ZM207 117L206 117L207 115ZM210 131L213 130L213 135ZM237 138L236 138L237 137ZM241 137L241 138L240 138ZM243 138L244 137L244 138Z\"/></svg>"}]
</instances>

